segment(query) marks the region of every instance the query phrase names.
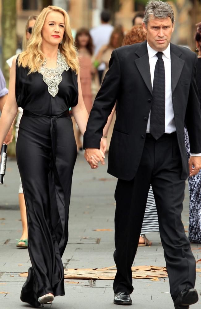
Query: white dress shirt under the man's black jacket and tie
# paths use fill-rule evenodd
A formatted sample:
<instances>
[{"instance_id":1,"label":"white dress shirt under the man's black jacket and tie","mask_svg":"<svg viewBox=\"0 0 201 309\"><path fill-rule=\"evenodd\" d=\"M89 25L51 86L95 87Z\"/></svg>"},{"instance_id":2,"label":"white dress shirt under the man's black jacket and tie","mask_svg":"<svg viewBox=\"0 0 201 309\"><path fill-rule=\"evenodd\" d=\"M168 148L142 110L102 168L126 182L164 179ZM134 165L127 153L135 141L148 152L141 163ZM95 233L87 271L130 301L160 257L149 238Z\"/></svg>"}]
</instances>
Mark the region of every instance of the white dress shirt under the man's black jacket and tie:
<instances>
[{"instance_id":1,"label":"white dress shirt under the man's black jacket and tie","mask_svg":"<svg viewBox=\"0 0 201 309\"><path fill-rule=\"evenodd\" d=\"M152 47L147 42L147 49L149 55L149 66L151 73L151 81L153 88L154 81L154 70L156 66L156 62L158 57L156 54L158 53L156 50L152 49ZM171 77L171 57L170 57L170 44L163 51L163 61L165 66L165 133L173 133L176 131L175 122L174 122L174 111L173 111L173 103L172 103L172 77ZM147 124L147 133L150 133L150 116L151 111L149 113L149 119ZM193 154L193 156L200 156L201 154Z\"/></svg>"}]
</instances>

